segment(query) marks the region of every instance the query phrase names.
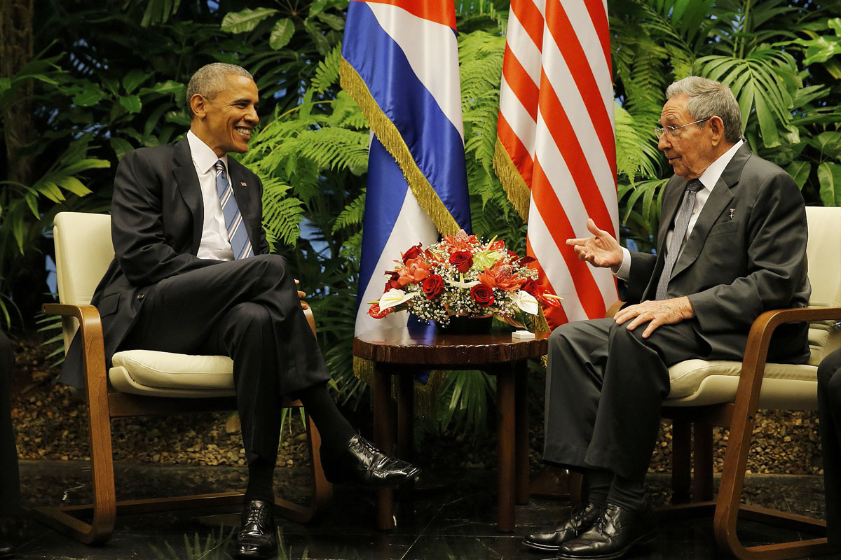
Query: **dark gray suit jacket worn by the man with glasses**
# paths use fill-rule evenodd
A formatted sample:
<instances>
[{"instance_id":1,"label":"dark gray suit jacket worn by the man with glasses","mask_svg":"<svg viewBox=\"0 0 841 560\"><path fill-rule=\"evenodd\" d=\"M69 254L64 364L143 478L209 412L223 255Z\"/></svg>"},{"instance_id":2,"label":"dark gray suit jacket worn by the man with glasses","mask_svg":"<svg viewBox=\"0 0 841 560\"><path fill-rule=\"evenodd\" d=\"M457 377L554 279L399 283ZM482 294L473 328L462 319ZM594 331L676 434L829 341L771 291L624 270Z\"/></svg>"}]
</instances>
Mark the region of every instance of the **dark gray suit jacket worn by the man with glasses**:
<instances>
[{"instance_id":1,"label":"dark gray suit jacket worn by the man with glasses","mask_svg":"<svg viewBox=\"0 0 841 560\"><path fill-rule=\"evenodd\" d=\"M674 175L665 186L657 255L632 254L630 277L621 283L624 301L654 299L666 233L685 185ZM796 183L744 144L712 189L674 264L669 296L689 296L696 331L711 355L740 355L760 313L808 305L806 243L806 207ZM807 324L778 328L771 348L774 359L805 361Z\"/></svg>"}]
</instances>

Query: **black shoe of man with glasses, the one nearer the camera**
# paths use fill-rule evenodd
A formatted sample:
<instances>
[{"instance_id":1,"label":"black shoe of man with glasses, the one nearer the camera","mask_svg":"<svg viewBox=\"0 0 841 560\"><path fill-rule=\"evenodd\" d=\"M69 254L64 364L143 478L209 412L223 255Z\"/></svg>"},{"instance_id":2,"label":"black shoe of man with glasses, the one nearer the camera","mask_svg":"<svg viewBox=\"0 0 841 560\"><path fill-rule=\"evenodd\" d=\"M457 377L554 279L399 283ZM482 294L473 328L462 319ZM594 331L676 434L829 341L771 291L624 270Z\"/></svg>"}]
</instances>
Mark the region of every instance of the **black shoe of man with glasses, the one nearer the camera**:
<instances>
[{"instance_id":1,"label":"black shoe of man with glasses, the one nearer the camera","mask_svg":"<svg viewBox=\"0 0 841 560\"><path fill-rule=\"evenodd\" d=\"M558 547L559 560L614 560L632 547L646 544L657 535L657 521L650 507L642 511L605 505L604 514L590 531Z\"/></svg>"}]
</instances>

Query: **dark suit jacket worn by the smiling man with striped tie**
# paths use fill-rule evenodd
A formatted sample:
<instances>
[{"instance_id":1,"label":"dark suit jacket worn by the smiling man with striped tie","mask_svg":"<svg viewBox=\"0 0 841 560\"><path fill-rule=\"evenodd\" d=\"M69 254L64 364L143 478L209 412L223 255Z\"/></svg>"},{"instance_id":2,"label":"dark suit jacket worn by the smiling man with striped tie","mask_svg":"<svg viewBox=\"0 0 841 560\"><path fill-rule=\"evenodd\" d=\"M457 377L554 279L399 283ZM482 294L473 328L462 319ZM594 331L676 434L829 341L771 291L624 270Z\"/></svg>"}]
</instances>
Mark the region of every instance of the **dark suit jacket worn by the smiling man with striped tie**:
<instances>
[{"instance_id":1,"label":"dark suit jacket worn by the smiling man with striped tie","mask_svg":"<svg viewBox=\"0 0 841 560\"><path fill-rule=\"evenodd\" d=\"M268 253L262 228L262 183L233 158L229 179L255 254ZM93 294L102 317L105 358L124 341L143 306L145 292L157 282L221 261L199 259L204 206L187 139L125 154L114 177L111 238L114 260ZM84 385L77 335L59 380Z\"/></svg>"}]
</instances>

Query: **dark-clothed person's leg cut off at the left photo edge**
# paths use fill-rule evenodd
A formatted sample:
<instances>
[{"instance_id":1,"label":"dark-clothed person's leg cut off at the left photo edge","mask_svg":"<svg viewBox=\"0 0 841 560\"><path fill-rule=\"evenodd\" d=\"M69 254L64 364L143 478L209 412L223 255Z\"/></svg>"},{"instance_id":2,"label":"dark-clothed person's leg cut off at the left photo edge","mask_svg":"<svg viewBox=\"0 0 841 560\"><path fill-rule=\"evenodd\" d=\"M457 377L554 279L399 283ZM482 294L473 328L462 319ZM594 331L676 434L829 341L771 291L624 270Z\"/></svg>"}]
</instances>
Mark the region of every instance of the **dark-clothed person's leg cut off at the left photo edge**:
<instances>
[{"instance_id":1,"label":"dark-clothed person's leg cut off at the left photo edge","mask_svg":"<svg viewBox=\"0 0 841 560\"><path fill-rule=\"evenodd\" d=\"M0 525L4 517L19 514L20 484L18 451L14 445L14 428L9 398L12 395L12 343L0 332ZM2 527L0 527L2 529ZM14 557L14 547L0 534L0 560Z\"/></svg>"}]
</instances>

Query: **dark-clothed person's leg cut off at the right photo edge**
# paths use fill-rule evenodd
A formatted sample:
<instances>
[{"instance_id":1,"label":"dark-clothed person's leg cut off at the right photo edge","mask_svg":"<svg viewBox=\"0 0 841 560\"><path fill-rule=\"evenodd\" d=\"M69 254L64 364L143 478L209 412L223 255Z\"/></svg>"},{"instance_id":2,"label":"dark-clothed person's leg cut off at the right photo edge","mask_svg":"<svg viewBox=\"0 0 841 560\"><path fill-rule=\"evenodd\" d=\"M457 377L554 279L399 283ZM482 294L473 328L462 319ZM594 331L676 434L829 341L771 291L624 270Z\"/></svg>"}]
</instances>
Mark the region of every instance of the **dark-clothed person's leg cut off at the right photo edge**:
<instances>
[{"instance_id":1,"label":"dark-clothed person's leg cut off at the right photo edge","mask_svg":"<svg viewBox=\"0 0 841 560\"><path fill-rule=\"evenodd\" d=\"M841 548L841 350L817 367L817 415L821 420L823 484L829 544Z\"/></svg>"}]
</instances>

